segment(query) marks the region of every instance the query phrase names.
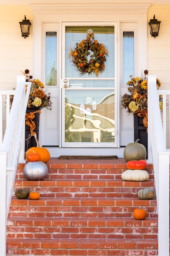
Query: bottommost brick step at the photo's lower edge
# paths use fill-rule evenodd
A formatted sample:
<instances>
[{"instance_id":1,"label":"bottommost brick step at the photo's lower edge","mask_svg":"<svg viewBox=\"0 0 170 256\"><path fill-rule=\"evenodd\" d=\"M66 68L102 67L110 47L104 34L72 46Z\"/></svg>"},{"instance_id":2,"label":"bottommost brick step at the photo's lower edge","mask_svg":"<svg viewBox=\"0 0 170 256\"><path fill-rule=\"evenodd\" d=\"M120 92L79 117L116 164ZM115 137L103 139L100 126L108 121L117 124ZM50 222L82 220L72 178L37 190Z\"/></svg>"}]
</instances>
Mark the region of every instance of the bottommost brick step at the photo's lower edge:
<instances>
[{"instance_id":1,"label":"bottommost brick step at the photo's lower edge","mask_svg":"<svg viewBox=\"0 0 170 256\"><path fill-rule=\"evenodd\" d=\"M157 255L157 240L7 239L7 255Z\"/></svg>"}]
</instances>

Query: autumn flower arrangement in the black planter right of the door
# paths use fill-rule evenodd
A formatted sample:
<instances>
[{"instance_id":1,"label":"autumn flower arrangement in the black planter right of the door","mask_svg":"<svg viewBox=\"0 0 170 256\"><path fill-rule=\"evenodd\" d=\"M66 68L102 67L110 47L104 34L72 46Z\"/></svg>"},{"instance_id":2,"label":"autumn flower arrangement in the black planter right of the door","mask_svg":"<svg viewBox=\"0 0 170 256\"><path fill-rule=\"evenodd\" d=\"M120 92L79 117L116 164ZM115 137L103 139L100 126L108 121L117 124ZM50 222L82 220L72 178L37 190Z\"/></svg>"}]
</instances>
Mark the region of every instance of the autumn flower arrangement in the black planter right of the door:
<instances>
[{"instance_id":1,"label":"autumn flower arrangement in the black planter right of the door","mask_svg":"<svg viewBox=\"0 0 170 256\"><path fill-rule=\"evenodd\" d=\"M147 70L145 70L145 74ZM148 81L141 77L130 76L130 81L126 84L129 85L128 93L121 97L122 108L127 108L128 113L137 113L139 117L143 117L145 127L148 127ZM157 90L160 88L161 82L157 79ZM159 108L163 109L162 97L159 97Z\"/></svg>"}]
</instances>

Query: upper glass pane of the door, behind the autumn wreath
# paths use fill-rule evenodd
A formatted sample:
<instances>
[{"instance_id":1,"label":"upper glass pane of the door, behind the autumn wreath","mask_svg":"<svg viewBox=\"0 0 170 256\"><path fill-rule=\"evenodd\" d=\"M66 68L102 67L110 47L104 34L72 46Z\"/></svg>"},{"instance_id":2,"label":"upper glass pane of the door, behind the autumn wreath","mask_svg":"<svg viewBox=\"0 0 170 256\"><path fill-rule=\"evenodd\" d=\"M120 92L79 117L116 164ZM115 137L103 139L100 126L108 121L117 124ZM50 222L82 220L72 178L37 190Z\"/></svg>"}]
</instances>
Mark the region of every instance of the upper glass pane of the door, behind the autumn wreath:
<instances>
[{"instance_id":1,"label":"upper glass pane of the door, behind the autumn wreath","mask_svg":"<svg viewBox=\"0 0 170 256\"><path fill-rule=\"evenodd\" d=\"M71 63L68 59L68 53L71 47L75 47L76 43L79 43L83 39L86 39L86 35L88 34L88 29L92 29L95 39L98 40L99 43L102 43L106 46L109 54L106 57L105 63L105 71L99 75L99 77L115 77L115 34L114 27L66 27L66 57L65 57L65 77L79 77L80 74L75 70L73 63ZM93 54L93 52L91 52ZM84 74L84 77L96 77L95 74L88 75Z\"/></svg>"}]
</instances>

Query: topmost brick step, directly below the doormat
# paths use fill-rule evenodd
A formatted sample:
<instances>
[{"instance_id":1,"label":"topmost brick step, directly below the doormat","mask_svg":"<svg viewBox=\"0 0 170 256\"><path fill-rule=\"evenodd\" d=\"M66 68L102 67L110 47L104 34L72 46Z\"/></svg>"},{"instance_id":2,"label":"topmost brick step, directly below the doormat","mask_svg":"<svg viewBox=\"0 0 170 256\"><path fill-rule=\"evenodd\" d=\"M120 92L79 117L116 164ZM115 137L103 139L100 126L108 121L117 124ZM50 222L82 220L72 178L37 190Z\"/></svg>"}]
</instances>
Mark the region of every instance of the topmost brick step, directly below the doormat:
<instances>
[{"instance_id":1,"label":"topmost brick step, directly below the doormat","mask_svg":"<svg viewBox=\"0 0 170 256\"><path fill-rule=\"evenodd\" d=\"M118 160L62 160L50 159L48 176L45 180L120 180L127 169L124 159ZM24 180L24 164L18 165L16 179ZM146 171L154 180L153 166L148 164Z\"/></svg>"}]
</instances>

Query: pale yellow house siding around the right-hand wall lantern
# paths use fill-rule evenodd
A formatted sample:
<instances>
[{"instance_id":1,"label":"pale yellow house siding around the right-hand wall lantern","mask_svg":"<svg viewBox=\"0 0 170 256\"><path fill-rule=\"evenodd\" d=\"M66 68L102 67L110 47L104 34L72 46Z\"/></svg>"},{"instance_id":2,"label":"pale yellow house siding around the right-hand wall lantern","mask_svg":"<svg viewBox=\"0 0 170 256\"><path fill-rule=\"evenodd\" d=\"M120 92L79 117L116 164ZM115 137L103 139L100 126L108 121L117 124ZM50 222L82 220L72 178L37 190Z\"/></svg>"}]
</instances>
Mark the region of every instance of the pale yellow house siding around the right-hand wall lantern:
<instances>
[{"instance_id":1,"label":"pale yellow house siding around the right-hand wall lantern","mask_svg":"<svg viewBox=\"0 0 170 256\"><path fill-rule=\"evenodd\" d=\"M161 24L156 38L151 37L148 26L148 71L160 79L161 89L170 89L170 4L151 5L148 22L154 14Z\"/></svg>"}]
</instances>

